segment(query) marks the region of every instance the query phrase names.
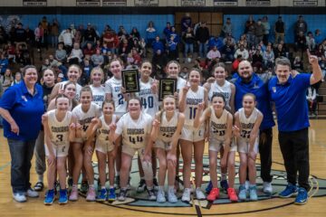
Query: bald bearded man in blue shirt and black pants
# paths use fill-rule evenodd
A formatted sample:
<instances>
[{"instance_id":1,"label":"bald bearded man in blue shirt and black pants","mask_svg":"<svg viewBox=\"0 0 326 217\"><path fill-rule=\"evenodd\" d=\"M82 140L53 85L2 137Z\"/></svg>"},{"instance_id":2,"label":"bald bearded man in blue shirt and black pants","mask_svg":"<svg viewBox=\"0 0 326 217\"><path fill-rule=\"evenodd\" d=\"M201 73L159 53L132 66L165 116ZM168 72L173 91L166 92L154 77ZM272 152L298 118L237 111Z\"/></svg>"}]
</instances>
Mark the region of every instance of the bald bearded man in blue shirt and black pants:
<instances>
[{"instance_id":1,"label":"bald bearded man in blue shirt and black pants","mask_svg":"<svg viewBox=\"0 0 326 217\"><path fill-rule=\"evenodd\" d=\"M254 72L249 61L241 61L238 66L238 78L235 83L235 110L242 108L242 100L246 93L253 93L257 100L257 109L263 115L260 126L259 155L261 158L261 177L264 182L264 193L273 193L271 175L272 167L272 140L273 140L273 113L267 89L267 81L260 79Z\"/></svg>"}]
</instances>

